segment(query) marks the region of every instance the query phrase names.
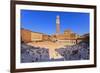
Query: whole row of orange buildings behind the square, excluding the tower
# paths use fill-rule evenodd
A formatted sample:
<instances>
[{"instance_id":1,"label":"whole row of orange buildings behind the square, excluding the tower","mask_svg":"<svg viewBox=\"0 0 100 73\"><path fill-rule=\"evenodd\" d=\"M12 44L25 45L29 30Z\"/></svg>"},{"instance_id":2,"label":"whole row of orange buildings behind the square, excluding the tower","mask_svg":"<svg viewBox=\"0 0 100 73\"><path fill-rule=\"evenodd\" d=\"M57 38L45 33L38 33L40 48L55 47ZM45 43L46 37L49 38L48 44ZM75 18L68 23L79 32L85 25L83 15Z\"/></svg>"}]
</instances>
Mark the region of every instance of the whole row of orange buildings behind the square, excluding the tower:
<instances>
[{"instance_id":1,"label":"whole row of orange buildings behind the square, excluding the tower","mask_svg":"<svg viewBox=\"0 0 100 73\"><path fill-rule=\"evenodd\" d=\"M81 40L77 39L76 34L71 31L65 31L63 34L46 35L38 32L32 32L29 30L21 30L21 39L24 42L32 41L58 41L68 44L76 44ZM76 41L77 40L77 41Z\"/></svg>"}]
</instances>

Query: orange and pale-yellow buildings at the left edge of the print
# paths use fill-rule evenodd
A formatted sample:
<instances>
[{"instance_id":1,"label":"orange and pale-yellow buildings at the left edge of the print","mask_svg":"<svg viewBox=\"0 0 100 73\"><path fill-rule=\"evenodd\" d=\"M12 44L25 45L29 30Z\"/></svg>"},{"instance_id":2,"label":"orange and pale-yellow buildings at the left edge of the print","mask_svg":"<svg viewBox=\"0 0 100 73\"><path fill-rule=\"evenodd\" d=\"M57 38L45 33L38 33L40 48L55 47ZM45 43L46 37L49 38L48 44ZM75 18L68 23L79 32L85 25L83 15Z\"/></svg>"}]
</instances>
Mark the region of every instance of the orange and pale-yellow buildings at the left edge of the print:
<instances>
[{"instance_id":1,"label":"orange and pale-yellow buildings at the left edge of the print","mask_svg":"<svg viewBox=\"0 0 100 73\"><path fill-rule=\"evenodd\" d=\"M21 39L24 42L31 42L31 41L42 41L43 34L38 32L32 32L29 30L21 29Z\"/></svg>"}]
</instances>

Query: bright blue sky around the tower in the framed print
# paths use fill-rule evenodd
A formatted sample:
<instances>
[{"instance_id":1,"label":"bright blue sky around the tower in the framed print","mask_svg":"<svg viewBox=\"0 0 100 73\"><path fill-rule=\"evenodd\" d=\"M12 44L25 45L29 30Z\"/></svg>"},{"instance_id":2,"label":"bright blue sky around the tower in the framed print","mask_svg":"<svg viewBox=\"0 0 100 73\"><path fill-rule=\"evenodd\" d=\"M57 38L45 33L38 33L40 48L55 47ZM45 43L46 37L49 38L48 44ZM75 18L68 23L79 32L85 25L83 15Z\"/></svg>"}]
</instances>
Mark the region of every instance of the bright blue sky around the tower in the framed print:
<instances>
[{"instance_id":1,"label":"bright blue sky around the tower in the framed print","mask_svg":"<svg viewBox=\"0 0 100 73\"><path fill-rule=\"evenodd\" d=\"M45 34L56 33L56 16L60 16L60 32L70 29L82 35L89 33L89 13L21 10L21 28Z\"/></svg>"}]
</instances>

